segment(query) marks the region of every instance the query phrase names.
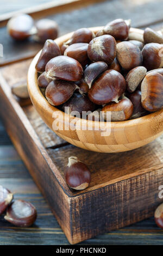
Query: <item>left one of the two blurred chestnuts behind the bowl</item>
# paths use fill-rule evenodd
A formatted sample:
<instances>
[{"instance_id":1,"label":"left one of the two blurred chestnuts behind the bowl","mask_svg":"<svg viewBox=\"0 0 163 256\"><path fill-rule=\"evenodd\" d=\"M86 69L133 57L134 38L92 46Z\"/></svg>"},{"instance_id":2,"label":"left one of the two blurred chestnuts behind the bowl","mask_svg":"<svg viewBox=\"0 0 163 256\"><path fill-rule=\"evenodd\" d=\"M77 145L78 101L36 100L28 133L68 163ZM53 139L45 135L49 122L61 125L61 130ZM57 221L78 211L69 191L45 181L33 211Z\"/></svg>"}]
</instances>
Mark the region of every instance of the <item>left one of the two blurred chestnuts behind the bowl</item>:
<instances>
[{"instance_id":1,"label":"left one of the two blurred chestnuts behind the bowl","mask_svg":"<svg viewBox=\"0 0 163 256\"><path fill-rule=\"evenodd\" d=\"M12 17L7 23L9 35L16 40L24 40L33 32L34 22L28 14L20 14Z\"/></svg>"}]
</instances>

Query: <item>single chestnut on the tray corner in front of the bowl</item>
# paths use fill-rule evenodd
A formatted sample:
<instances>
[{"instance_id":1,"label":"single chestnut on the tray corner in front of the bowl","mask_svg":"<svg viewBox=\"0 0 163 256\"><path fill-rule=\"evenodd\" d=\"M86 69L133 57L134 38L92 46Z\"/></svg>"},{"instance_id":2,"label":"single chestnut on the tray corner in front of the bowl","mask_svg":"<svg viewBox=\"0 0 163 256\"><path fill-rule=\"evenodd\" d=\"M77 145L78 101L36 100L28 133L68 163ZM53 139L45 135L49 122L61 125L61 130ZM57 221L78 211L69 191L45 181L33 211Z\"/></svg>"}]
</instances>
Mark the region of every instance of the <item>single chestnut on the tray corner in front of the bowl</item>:
<instances>
[{"instance_id":1,"label":"single chestnut on the tray corner in front of the bowl","mask_svg":"<svg viewBox=\"0 0 163 256\"><path fill-rule=\"evenodd\" d=\"M85 163L80 162L77 157L68 157L65 169L65 179L69 187L74 190L84 190L91 182L91 172Z\"/></svg>"}]
</instances>

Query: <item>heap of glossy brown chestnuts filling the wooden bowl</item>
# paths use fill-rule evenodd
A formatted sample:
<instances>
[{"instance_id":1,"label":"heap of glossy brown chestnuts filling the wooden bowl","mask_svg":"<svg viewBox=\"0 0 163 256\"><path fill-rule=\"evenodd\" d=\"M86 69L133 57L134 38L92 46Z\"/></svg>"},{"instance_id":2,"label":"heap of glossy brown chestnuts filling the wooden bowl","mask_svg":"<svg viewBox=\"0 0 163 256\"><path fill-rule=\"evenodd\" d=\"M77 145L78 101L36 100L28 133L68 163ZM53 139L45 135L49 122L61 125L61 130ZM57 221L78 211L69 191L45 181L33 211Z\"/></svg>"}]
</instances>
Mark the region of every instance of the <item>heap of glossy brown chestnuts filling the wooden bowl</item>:
<instances>
[{"instance_id":1,"label":"heap of glossy brown chestnuts filling the wooden bowl","mask_svg":"<svg viewBox=\"0 0 163 256\"><path fill-rule=\"evenodd\" d=\"M130 36L130 21L96 34L80 28L61 47L48 39L35 68L48 102L68 114L102 111L105 121L107 112L124 121L163 108L163 35L146 28Z\"/></svg>"}]
</instances>

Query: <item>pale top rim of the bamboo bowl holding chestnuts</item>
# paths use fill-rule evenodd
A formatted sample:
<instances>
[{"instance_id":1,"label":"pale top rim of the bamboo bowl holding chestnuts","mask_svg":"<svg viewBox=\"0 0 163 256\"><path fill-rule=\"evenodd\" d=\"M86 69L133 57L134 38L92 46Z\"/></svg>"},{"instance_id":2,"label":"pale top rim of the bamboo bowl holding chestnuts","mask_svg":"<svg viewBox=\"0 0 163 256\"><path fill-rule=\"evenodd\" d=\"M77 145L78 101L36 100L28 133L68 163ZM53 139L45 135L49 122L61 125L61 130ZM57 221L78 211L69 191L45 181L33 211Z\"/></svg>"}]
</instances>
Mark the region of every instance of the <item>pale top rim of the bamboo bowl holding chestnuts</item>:
<instances>
[{"instance_id":1,"label":"pale top rim of the bamboo bowl holding chestnuts","mask_svg":"<svg viewBox=\"0 0 163 256\"><path fill-rule=\"evenodd\" d=\"M97 32L99 29L101 29L102 27L91 27L89 29L91 29L91 31L93 32ZM139 34L143 34L143 30L142 29L137 29L137 28L130 28L130 32L137 32ZM71 35L73 34L73 32L65 34L60 36L59 38L55 39L54 41L57 42L57 44L59 46L62 45L63 42L67 41L68 39L70 39ZM32 63L30 64L29 70L28 70L28 92L29 92L29 96L30 99L32 100L33 104L37 104L40 108L40 112L43 112L44 114L51 114L51 117L53 115L54 111L58 111L58 113L60 112L60 114L64 115L64 120L66 123L68 123L70 121L70 119L76 119L79 121L84 120L87 124L87 127L89 127L91 125L91 127L96 127L96 125L99 125L99 121L92 121L92 120L86 120L86 119L82 119L82 118L77 118L77 117L73 117L69 114L64 113L63 111L60 111L60 109L56 108L55 106L52 106L47 100L46 98L43 96L43 94L41 93L41 90L37 84L37 71L35 70L35 65L37 63L37 60L39 59L40 53L42 50L40 50L36 56L34 57L34 59L32 60ZM101 122L104 124L104 127L107 129L107 127L115 128L117 127L117 129L123 129L124 126L136 126L138 124L147 124L150 123L151 120L154 117L157 117L161 112L163 111L163 109L161 109L160 111L157 112L153 112L151 114L145 115L143 117L140 118L136 118L136 119L131 119L131 120L126 120L126 121L111 121L111 122ZM77 122L78 123L78 122ZM78 127L78 124L76 123L76 129Z\"/></svg>"}]
</instances>

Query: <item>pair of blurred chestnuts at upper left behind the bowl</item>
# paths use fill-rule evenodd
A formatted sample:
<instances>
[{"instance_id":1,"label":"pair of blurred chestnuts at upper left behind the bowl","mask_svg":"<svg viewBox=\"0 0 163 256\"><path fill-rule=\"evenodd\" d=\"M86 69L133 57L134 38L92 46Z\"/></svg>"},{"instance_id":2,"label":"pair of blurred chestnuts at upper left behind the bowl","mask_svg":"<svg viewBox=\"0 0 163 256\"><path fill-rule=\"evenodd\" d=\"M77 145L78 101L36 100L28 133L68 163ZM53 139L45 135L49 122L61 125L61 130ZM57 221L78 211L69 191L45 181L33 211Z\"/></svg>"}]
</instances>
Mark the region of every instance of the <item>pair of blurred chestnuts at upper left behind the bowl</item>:
<instances>
[{"instance_id":1,"label":"pair of blurred chestnuts at upper left behind the bowl","mask_svg":"<svg viewBox=\"0 0 163 256\"><path fill-rule=\"evenodd\" d=\"M34 23L28 14L12 17L8 21L7 30L9 35L18 41L33 36L36 41L44 43L47 39L56 39L58 36L58 25L55 21L41 19Z\"/></svg>"}]
</instances>

